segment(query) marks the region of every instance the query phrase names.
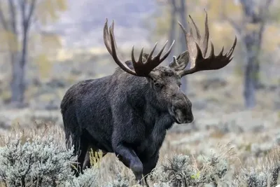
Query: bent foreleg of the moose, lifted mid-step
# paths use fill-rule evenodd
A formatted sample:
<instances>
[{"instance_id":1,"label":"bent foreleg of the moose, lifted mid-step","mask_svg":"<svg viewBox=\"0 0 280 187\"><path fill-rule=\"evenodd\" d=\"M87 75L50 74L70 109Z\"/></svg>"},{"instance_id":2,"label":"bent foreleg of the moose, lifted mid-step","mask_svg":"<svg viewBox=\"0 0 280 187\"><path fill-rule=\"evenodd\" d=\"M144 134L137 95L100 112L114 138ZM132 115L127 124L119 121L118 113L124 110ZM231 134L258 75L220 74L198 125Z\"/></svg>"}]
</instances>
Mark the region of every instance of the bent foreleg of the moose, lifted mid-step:
<instances>
[{"instance_id":1,"label":"bent foreleg of the moose, lifted mid-step","mask_svg":"<svg viewBox=\"0 0 280 187\"><path fill-rule=\"evenodd\" d=\"M115 153L125 166L132 169L137 181L140 181L143 174L143 164L132 148L127 148L123 144L118 144L115 148Z\"/></svg>"}]
</instances>

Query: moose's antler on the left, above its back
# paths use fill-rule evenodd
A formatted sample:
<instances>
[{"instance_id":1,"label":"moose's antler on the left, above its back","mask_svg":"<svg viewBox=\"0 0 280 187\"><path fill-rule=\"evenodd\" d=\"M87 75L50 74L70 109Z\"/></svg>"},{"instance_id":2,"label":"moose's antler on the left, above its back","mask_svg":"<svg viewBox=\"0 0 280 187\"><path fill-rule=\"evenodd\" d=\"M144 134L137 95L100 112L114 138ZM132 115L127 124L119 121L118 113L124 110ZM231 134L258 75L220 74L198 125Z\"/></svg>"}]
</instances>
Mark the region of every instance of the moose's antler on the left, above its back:
<instances>
[{"instance_id":1,"label":"moose's antler on the left, above its back","mask_svg":"<svg viewBox=\"0 0 280 187\"><path fill-rule=\"evenodd\" d=\"M114 22L109 27L109 29L108 29L107 23L108 23L108 19L106 19L106 22L104 25L103 37L104 37L104 43L105 43L105 46L106 46L108 52L111 54L111 56L113 57L113 60L115 60L115 62L118 64L118 66L121 69L123 69L127 73L132 74L134 76L149 76L150 72L167 58L167 56L171 52L172 47L175 42L175 41L173 41L172 45L169 47L169 50L167 50L167 53L165 53L165 55L163 55L162 57L160 57L160 55L162 55L162 52L165 49L165 46L167 45L168 41L165 42L165 45L162 47L162 49L160 50L158 55L156 55L155 57L152 57L152 55L155 51L155 47L157 46L158 42L155 43L155 46L151 50L151 53L149 53L147 55L148 57L145 57L146 62L144 62L144 60L143 60L144 48L141 49L141 52L139 55L139 60L136 61L135 57L134 57L134 46L132 46L131 55L132 55L132 64L134 67L134 70L133 70L133 69L130 69L129 67L127 67L125 62L120 60L120 58L118 57L116 40L115 40L115 36L113 34Z\"/></svg>"}]
</instances>

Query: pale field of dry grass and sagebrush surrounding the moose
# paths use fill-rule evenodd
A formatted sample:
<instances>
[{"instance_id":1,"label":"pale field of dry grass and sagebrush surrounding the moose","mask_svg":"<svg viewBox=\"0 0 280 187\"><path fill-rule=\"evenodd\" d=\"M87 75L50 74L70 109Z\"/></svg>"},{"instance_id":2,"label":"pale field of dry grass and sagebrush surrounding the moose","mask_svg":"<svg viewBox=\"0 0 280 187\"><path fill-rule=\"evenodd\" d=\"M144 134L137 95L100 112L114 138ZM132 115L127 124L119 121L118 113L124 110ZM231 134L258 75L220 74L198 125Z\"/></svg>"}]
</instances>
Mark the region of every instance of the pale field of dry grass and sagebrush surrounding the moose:
<instances>
[{"instance_id":1,"label":"pale field of dry grass and sagebrush surrounding the moose","mask_svg":"<svg viewBox=\"0 0 280 187\"><path fill-rule=\"evenodd\" d=\"M109 55L99 52L97 54L96 51L92 53L53 63L45 78L36 74L34 64L29 64L28 89L25 95L29 105L24 109L8 106L9 69L0 63L1 158L3 153L14 152L10 155L13 159L6 162L25 162L26 156L32 152L25 144L27 137L39 137L32 141L38 143L37 151L41 150L44 144L45 147L50 147L45 150L45 154L38 154L38 158L48 155L50 159L55 157L53 153L59 151L67 155L68 152L64 150L62 116L59 111L64 93L73 83L111 74L116 67ZM262 88L257 92L257 106L251 110L244 109L243 78L236 72L236 63L233 61L218 72L202 72L188 76L187 95L193 102L195 121L188 125L174 125L169 130L160 151L158 166L148 180L151 186L253 187L275 186L274 184L278 183L279 88L276 83L269 81L270 79L264 79ZM20 132L23 134L16 137ZM51 136L54 137L52 141L45 141ZM13 147L14 144L7 141L7 137L20 138L22 143ZM17 154L20 156L16 157ZM66 155L60 155L63 158L62 162L55 162L59 162L61 168L69 169L69 160L72 158ZM9 167L3 160L5 159L0 159L1 179L14 179L11 176L18 176L18 170L4 170ZM52 176L64 176L63 179L54 179L61 181L60 186L73 186L73 183L80 186L135 185L131 170L118 161L115 155L108 154L102 160L98 160L98 163L99 167L94 167L80 179L71 178L67 169L48 170L57 168L52 164L42 167L45 170L40 170L35 163L34 172L40 176L47 175L48 177L42 178L45 183L49 183ZM43 171L48 171L50 175ZM63 183L64 179L73 183Z\"/></svg>"}]
</instances>

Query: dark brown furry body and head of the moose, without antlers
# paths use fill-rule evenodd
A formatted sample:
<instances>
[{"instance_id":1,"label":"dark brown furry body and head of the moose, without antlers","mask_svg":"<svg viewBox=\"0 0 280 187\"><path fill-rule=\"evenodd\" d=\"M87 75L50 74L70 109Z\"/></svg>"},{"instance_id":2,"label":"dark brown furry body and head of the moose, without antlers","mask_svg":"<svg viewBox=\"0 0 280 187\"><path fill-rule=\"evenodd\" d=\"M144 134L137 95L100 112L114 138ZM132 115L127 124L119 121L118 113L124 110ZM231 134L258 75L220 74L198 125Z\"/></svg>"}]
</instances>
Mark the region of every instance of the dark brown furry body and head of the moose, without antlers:
<instances>
[{"instance_id":1,"label":"dark brown furry body and head of the moose, without antlers","mask_svg":"<svg viewBox=\"0 0 280 187\"><path fill-rule=\"evenodd\" d=\"M176 71L159 66L151 75L133 76L117 68L111 76L67 90L61 103L64 130L80 165L92 147L116 153L140 180L158 162L166 131L175 122L193 121L192 104L179 88Z\"/></svg>"}]
</instances>

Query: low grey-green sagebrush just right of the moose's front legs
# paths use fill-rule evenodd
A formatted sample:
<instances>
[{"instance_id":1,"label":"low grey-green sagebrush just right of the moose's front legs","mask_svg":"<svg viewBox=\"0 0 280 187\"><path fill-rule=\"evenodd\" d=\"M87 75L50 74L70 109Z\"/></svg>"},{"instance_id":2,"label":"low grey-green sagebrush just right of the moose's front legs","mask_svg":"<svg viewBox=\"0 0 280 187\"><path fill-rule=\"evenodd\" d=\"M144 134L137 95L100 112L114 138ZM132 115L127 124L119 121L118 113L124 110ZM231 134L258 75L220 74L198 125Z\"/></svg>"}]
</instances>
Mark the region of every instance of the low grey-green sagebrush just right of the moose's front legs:
<instances>
[{"instance_id":1,"label":"low grey-green sagebrush just right of the moose's front legs","mask_svg":"<svg viewBox=\"0 0 280 187\"><path fill-rule=\"evenodd\" d=\"M230 160L225 153L213 153L209 157L200 155L199 158L202 158L200 166L197 165L199 159L191 160L188 155L174 155L156 167L150 179L159 182L155 184L158 187L205 186L207 184L218 186L230 169Z\"/></svg>"}]
</instances>

